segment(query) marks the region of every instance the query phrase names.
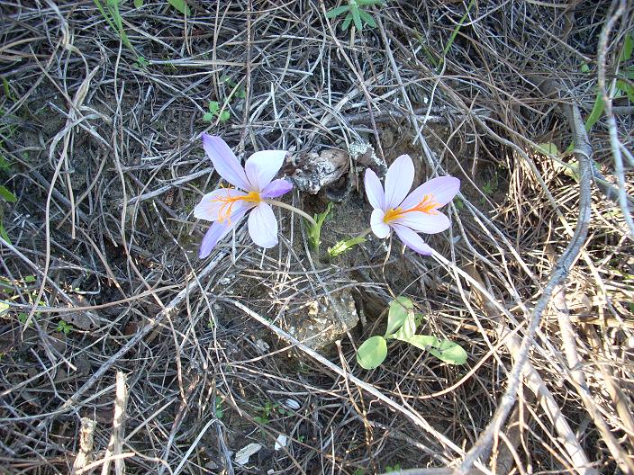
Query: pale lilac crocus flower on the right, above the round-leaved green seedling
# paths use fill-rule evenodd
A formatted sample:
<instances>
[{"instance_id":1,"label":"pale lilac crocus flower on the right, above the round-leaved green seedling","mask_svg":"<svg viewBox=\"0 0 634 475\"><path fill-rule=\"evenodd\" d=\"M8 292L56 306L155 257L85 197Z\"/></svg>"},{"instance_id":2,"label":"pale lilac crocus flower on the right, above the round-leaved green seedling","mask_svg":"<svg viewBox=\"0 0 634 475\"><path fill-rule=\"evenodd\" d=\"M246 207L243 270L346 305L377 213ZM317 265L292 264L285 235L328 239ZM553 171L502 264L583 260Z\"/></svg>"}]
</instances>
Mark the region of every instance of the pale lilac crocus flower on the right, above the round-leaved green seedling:
<instances>
[{"instance_id":1,"label":"pale lilac crocus flower on the right, above the round-leaved green seedling","mask_svg":"<svg viewBox=\"0 0 634 475\"><path fill-rule=\"evenodd\" d=\"M449 227L447 216L438 209L451 200L460 187L460 180L453 176L440 176L421 184L412 193L414 164L409 155L396 158L385 175L385 192L378 176L366 170L367 201L374 211L370 225L376 237L384 238L394 232L405 246L423 255L431 255L419 232L434 234Z\"/></svg>"}]
</instances>

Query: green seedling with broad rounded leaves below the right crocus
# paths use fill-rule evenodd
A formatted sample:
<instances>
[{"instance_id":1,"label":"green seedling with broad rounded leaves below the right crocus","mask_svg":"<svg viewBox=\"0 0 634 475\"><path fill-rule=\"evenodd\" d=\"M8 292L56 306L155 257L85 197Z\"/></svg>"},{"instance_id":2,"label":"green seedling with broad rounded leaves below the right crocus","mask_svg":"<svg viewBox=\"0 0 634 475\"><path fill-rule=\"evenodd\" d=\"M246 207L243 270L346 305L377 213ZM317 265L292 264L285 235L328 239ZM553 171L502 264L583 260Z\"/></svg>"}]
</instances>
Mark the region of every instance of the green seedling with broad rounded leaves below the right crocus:
<instances>
[{"instance_id":1,"label":"green seedling with broad rounded leaves below the right crocus","mask_svg":"<svg viewBox=\"0 0 634 475\"><path fill-rule=\"evenodd\" d=\"M373 370L387 356L387 341L400 340L421 348L449 364L466 363L466 351L457 343L440 340L436 336L416 335L416 327L423 316L414 310L412 300L398 297L390 302L385 336L371 336L358 347L357 362L366 370Z\"/></svg>"}]
</instances>

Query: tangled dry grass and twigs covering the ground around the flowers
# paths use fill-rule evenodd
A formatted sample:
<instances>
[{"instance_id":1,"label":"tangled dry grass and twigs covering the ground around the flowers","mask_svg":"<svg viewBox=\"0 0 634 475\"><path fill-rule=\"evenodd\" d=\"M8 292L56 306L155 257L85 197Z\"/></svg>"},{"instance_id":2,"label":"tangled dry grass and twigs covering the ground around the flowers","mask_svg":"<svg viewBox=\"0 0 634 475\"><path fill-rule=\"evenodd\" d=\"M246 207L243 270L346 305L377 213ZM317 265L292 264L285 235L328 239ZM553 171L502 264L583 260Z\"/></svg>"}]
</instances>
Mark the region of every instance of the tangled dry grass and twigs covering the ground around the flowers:
<instances>
[{"instance_id":1,"label":"tangled dry grass and twigs covering the ground around the flowers","mask_svg":"<svg viewBox=\"0 0 634 475\"><path fill-rule=\"evenodd\" d=\"M0 5L2 472L634 473L632 109L589 134L579 115L631 67L631 6L475 2L443 57L468 2L391 1L353 35L330 3L187 3L123 2L134 52L91 1ZM266 254L239 229L199 261L204 130L247 154L410 153L461 178L452 228L434 258L369 241L323 264L284 211ZM367 226L350 179L324 247ZM326 354L282 329L342 291L367 322ZM358 367L401 294L466 366L396 345Z\"/></svg>"}]
</instances>

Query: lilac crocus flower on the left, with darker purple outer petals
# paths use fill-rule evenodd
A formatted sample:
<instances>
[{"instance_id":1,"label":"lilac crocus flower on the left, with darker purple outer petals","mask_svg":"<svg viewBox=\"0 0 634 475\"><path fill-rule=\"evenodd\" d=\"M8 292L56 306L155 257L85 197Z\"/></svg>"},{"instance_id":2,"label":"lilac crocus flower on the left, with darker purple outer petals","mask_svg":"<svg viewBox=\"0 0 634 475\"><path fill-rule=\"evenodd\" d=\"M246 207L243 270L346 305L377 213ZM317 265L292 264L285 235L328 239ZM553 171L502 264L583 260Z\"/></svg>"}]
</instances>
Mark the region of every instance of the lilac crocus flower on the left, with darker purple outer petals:
<instances>
[{"instance_id":1,"label":"lilac crocus flower on the left, with darker purple outer petals","mask_svg":"<svg viewBox=\"0 0 634 475\"><path fill-rule=\"evenodd\" d=\"M199 220L213 221L203 237L200 258L212 252L218 241L234 229L249 212L249 235L262 247L277 244L277 220L267 198L276 198L293 189L285 180L273 180L284 164L283 150L262 150L244 164L220 137L203 134L203 147L219 175L235 188L219 188L203 196L194 209Z\"/></svg>"}]
</instances>

